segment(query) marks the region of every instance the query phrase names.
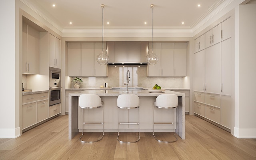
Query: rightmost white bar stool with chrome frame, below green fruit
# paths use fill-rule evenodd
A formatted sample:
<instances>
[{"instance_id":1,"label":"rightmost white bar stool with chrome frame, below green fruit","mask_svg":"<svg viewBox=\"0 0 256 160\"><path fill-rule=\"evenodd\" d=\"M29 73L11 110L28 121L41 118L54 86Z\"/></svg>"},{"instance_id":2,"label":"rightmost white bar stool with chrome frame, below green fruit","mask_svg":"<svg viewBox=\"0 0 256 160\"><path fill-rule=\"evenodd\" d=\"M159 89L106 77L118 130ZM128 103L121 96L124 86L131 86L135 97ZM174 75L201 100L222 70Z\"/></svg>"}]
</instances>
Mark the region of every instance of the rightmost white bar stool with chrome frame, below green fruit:
<instances>
[{"instance_id":1,"label":"rightmost white bar stool with chrome frame, below green fruit","mask_svg":"<svg viewBox=\"0 0 256 160\"><path fill-rule=\"evenodd\" d=\"M176 94L160 94L159 96L156 97L156 101L153 104L153 136L158 142L164 142L164 143L172 143L176 142L178 139L175 136L175 110L173 110L173 118L174 122L155 122L154 120L154 107L160 108L160 109L175 109L178 107L178 96ZM156 138L154 134L154 126L156 124L173 124L173 135L176 138L174 141L164 141L164 140L159 140Z\"/></svg>"}]
</instances>

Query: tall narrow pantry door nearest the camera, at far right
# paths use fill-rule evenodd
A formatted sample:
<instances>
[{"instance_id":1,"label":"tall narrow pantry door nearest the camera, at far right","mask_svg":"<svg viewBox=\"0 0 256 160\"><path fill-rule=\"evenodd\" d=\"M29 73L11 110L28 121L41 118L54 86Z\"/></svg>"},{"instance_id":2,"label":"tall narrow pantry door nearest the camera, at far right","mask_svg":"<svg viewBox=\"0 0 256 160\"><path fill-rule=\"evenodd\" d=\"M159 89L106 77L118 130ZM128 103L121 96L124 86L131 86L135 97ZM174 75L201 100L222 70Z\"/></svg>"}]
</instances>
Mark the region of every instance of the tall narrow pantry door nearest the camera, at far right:
<instances>
[{"instance_id":1,"label":"tall narrow pantry door nearest the camera, at far right","mask_svg":"<svg viewBox=\"0 0 256 160\"><path fill-rule=\"evenodd\" d=\"M231 38L221 44L221 93L231 95Z\"/></svg>"}]
</instances>

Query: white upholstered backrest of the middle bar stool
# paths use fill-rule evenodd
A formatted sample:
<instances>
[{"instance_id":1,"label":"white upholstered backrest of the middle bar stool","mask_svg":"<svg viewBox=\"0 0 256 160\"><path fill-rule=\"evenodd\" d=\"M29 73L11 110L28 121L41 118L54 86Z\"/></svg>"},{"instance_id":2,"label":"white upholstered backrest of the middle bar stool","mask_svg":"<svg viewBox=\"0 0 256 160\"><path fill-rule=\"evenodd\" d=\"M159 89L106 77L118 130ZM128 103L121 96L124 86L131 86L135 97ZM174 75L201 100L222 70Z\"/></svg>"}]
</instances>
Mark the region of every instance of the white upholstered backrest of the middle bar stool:
<instances>
[{"instance_id":1,"label":"white upholstered backrest of the middle bar stool","mask_svg":"<svg viewBox=\"0 0 256 160\"><path fill-rule=\"evenodd\" d=\"M117 106L122 108L140 106L140 98L136 94L121 94L117 98Z\"/></svg>"}]
</instances>

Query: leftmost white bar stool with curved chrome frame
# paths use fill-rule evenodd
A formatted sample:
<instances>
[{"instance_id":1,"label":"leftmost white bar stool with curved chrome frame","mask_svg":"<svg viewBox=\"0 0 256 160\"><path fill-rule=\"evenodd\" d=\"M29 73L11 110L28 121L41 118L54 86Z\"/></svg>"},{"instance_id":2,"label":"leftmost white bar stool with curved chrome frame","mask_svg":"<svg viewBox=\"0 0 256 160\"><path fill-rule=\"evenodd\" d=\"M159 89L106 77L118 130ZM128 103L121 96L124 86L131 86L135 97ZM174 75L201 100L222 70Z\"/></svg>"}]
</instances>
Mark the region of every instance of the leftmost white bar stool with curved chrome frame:
<instances>
[{"instance_id":1,"label":"leftmost white bar stool with curved chrome frame","mask_svg":"<svg viewBox=\"0 0 256 160\"><path fill-rule=\"evenodd\" d=\"M94 108L101 108L104 106L104 102L101 101L100 96L96 94L81 94L79 96L79 106L82 108L82 136L84 136L84 124L102 124L102 136L95 141L84 141L81 140L82 136L79 138L80 141L86 142L86 143L92 143L92 142L98 142L102 140L104 136L104 123L103 122L84 122L84 109L94 109ZM104 109L102 111L102 121L104 121Z\"/></svg>"}]
</instances>

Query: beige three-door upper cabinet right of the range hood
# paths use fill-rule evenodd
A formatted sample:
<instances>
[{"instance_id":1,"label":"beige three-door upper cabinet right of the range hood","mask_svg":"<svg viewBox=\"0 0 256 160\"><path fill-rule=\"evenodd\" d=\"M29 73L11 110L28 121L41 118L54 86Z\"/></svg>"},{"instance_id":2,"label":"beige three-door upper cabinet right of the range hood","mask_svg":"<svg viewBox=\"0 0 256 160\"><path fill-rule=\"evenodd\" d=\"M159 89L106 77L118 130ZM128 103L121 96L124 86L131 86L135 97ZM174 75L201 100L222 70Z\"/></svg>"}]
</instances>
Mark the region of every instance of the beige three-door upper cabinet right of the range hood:
<instances>
[{"instance_id":1,"label":"beige three-door upper cabinet right of the range hood","mask_svg":"<svg viewBox=\"0 0 256 160\"><path fill-rule=\"evenodd\" d=\"M149 53L152 43L149 43ZM186 76L186 43L153 43L153 51L158 55L158 63L148 65L148 76Z\"/></svg>"}]
</instances>

